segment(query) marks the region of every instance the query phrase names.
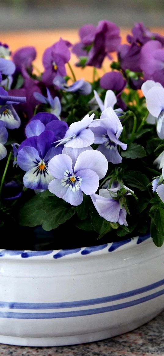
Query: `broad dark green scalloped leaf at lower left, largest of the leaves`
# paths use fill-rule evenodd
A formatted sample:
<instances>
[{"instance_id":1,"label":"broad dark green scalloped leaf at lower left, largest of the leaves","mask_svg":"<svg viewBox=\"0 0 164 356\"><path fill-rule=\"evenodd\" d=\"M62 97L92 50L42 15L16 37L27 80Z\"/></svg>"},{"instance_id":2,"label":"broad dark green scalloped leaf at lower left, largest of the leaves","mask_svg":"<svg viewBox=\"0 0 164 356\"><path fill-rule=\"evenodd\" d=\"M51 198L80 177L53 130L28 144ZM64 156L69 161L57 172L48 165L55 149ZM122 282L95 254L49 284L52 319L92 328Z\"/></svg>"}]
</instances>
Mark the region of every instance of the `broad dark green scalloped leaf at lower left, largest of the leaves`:
<instances>
[{"instance_id":1,"label":"broad dark green scalloped leaf at lower left, largest of the leaves","mask_svg":"<svg viewBox=\"0 0 164 356\"><path fill-rule=\"evenodd\" d=\"M27 201L19 212L19 221L23 226L42 225L44 230L50 231L74 214L73 206L46 190Z\"/></svg>"}]
</instances>

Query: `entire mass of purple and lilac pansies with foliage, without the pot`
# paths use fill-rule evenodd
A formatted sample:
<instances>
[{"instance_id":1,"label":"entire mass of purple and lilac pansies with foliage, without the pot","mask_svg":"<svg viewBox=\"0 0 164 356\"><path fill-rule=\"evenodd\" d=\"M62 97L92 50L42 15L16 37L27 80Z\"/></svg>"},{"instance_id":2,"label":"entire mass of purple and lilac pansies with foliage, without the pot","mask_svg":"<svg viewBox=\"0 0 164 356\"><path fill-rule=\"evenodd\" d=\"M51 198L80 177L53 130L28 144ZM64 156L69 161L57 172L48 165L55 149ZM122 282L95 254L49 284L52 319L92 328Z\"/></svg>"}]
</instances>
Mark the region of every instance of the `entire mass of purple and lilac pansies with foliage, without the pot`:
<instances>
[{"instance_id":1,"label":"entire mass of purple and lilac pansies with foliage, without the pot","mask_svg":"<svg viewBox=\"0 0 164 356\"><path fill-rule=\"evenodd\" d=\"M0 227L42 225L55 239L59 227L76 227L79 236L94 233L95 244L150 233L160 246L164 37L136 23L121 44L106 20L81 27L79 37L45 49L43 73L34 47L12 53L0 43ZM76 66L93 67L92 83L76 80L72 52ZM99 78L105 57L109 70Z\"/></svg>"}]
</instances>

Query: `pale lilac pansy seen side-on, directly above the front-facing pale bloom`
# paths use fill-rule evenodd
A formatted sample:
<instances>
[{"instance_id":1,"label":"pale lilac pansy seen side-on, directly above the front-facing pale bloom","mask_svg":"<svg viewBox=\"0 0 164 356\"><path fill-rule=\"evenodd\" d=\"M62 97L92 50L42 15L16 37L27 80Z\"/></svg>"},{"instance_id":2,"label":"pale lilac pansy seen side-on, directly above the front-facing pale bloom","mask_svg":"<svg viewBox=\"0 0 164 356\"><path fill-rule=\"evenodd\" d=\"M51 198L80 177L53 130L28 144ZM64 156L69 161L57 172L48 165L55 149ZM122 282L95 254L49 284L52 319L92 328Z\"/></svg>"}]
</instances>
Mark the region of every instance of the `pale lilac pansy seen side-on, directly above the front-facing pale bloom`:
<instances>
[{"instance_id":1,"label":"pale lilac pansy seen side-on, directly above the front-facing pale bloom","mask_svg":"<svg viewBox=\"0 0 164 356\"><path fill-rule=\"evenodd\" d=\"M88 127L94 115L95 114L89 116L87 114L81 121L73 122L65 133L64 138L56 141L56 143L59 142L57 146L64 145L66 147L83 148L92 145L94 142L94 134Z\"/></svg>"}]
</instances>

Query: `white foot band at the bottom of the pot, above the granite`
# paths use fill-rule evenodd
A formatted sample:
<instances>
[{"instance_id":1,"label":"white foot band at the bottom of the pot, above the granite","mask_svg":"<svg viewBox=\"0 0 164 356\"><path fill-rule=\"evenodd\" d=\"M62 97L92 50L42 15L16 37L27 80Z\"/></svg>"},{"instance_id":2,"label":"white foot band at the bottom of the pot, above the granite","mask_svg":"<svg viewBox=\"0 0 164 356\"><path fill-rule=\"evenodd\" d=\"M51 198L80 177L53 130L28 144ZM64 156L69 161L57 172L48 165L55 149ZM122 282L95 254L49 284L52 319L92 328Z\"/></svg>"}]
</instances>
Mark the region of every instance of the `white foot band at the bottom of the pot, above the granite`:
<instances>
[{"instance_id":1,"label":"white foot band at the bottom of the pot, above the granite","mask_svg":"<svg viewBox=\"0 0 164 356\"><path fill-rule=\"evenodd\" d=\"M163 309L158 313L160 314ZM48 346L66 346L66 345L77 345L84 344L86 342L94 342L99 340L108 339L110 337L114 337L117 335L128 333L134 329L139 328L148 321L155 318L158 315L156 313L152 313L147 318L143 318L142 321L137 320L134 323L125 324L122 326L118 326L117 328L97 331L95 333L87 333L81 335L70 335L70 336L61 336L61 337L16 337L16 336L5 336L0 335L0 343L7 345L17 345L17 346L35 346L35 347L48 347Z\"/></svg>"}]
</instances>

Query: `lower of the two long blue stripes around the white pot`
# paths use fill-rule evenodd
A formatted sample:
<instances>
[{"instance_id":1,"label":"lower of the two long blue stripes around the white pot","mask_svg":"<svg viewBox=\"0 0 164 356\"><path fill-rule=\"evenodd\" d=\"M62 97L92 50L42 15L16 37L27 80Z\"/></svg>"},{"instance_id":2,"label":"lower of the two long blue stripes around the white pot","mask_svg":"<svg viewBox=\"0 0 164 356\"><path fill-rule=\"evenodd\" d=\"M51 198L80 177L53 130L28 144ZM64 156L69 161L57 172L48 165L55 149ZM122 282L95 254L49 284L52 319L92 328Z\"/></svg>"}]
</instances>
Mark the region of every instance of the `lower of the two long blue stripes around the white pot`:
<instances>
[{"instance_id":1,"label":"lower of the two long blue stripes around the white pot","mask_svg":"<svg viewBox=\"0 0 164 356\"><path fill-rule=\"evenodd\" d=\"M147 295L139 299L131 300L130 302L125 302L121 304L111 305L109 307L85 309L85 310L73 310L70 312L54 312L54 313L19 313L19 312L0 312L0 318L11 318L11 319L58 319L58 318L72 318L74 316L86 316L94 315L100 313L113 312L114 310L125 309L133 307L148 300L159 297L164 294L164 289L159 292Z\"/></svg>"}]
</instances>

